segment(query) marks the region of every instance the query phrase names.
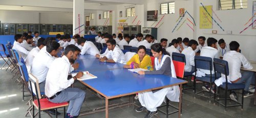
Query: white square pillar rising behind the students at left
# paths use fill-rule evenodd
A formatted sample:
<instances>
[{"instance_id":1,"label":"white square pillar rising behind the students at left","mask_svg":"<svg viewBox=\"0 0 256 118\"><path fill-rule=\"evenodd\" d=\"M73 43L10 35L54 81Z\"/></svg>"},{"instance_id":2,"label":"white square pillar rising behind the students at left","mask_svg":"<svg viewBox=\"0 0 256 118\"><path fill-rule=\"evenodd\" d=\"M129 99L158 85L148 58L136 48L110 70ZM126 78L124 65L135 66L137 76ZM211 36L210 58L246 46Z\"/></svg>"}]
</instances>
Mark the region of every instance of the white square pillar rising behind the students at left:
<instances>
[{"instance_id":1,"label":"white square pillar rising behind the students at left","mask_svg":"<svg viewBox=\"0 0 256 118\"><path fill-rule=\"evenodd\" d=\"M84 35L84 0L73 1L73 35Z\"/></svg>"}]
</instances>

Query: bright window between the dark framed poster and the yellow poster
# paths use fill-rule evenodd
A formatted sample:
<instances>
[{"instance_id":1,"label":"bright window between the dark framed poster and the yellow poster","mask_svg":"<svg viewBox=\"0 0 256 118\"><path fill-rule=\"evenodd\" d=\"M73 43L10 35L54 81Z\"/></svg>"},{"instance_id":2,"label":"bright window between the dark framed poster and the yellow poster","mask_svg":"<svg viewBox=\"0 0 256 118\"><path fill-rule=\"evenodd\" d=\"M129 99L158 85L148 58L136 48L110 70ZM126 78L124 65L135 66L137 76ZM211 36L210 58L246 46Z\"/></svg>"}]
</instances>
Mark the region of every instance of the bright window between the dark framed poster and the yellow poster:
<instances>
[{"instance_id":1,"label":"bright window between the dark framed poster and the yellow poster","mask_svg":"<svg viewBox=\"0 0 256 118\"><path fill-rule=\"evenodd\" d=\"M175 13L175 2L162 3L160 4L160 14L174 14Z\"/></svg>"}]
</instances>

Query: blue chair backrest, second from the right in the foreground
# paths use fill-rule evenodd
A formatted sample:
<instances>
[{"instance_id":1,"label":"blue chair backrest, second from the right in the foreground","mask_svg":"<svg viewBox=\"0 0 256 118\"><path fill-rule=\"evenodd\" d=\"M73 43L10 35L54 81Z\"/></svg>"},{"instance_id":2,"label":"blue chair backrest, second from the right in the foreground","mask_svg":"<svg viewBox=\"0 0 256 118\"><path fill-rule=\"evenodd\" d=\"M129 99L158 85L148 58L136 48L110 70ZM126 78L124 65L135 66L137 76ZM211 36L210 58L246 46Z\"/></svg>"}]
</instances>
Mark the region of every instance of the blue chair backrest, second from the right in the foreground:
<instances>
[{"instance_id":1,"label":"blue chair backrest, second from the right in the foreground","mask_svg":"<svg viewBox=\"0 0 256 118\"><path fill-rule=\"evenodd\" d=\"M195 69L212 70L211 57L195 56ZM197 71L197 70L196 70Z\"/></svg>"}]
</instances>

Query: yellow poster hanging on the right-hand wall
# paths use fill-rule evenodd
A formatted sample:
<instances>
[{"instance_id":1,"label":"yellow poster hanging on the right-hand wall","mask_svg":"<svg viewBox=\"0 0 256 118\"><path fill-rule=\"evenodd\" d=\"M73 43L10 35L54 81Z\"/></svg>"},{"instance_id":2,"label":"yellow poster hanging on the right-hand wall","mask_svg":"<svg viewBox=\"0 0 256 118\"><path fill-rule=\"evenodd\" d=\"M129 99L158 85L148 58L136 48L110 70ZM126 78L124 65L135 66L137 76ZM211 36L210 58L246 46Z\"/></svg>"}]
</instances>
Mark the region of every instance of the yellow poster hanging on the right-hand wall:
<instances>
[{"instance_id":1,"label":"yellow poster hanging on the right-hand wall","mask_svg":"<svg viewBox=\"0 0 256 118\"><path fill-rule=\"evenodd\" d=\"M204 6L208 13L206 13L203 7L200 7L200 28L212 28L212 6Z\"/></svg>"}]
</instances>

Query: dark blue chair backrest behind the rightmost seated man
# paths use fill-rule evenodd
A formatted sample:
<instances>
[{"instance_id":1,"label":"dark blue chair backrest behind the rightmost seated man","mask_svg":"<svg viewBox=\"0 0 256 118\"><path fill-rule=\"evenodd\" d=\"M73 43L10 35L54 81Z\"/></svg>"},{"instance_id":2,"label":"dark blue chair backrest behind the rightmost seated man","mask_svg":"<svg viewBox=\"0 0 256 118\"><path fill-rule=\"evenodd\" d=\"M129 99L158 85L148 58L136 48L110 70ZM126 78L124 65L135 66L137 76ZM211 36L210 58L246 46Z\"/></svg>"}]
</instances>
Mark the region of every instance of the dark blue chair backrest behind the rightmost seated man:
<instances>
[{"instance_id":1,"label":"dark blue chair backrest behind the rightmost seated man","mask_svg":"<svg viewBox=\"0 0 256 118\"><path fill-rule=\"evenodd\" d=\"M219 58L214 58L214 70L215 72L219 72L228 76L228 62Z\"/></svg>"}]
</instances>

